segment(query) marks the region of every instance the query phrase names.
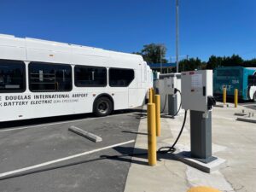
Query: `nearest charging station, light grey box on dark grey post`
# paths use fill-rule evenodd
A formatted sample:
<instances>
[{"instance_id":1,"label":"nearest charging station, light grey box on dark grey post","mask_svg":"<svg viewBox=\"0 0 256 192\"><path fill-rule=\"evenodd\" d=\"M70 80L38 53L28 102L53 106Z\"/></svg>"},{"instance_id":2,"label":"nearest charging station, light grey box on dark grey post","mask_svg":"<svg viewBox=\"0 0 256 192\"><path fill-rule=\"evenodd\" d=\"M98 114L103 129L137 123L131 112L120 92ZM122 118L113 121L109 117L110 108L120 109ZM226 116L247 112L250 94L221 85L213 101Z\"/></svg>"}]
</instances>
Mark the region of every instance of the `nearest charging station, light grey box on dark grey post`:
<instances>
[{"instance_id":1,"label":"nearest charging station, light grey box on dark grey post","mask_svg":"<svg viewBox=\"0 0 256 192\"><path fill-rule=\"evenodd\" d=\"M183 72L181 75L183 109L190 110L189 156L203 163L212 156L212 70Z\"/></svg>"}]
</instances>

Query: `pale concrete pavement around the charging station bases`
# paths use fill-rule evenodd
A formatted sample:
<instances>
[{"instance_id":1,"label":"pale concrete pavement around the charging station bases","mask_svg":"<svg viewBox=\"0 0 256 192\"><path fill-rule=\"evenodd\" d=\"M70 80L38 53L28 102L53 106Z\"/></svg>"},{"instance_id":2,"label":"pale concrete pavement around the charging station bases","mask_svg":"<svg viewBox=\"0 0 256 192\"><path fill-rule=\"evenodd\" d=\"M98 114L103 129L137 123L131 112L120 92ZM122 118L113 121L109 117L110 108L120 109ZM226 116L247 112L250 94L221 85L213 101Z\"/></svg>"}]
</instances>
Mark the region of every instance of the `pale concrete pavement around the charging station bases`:
<instances>
[{"instance_id":1,"label":"pale concrete pavement around the charging station bases","mask_svg":"<svg viewBox=\"0 0 256 192\"><path fill-rule=\"evenodd\" d=\"M193 186L210 186L221 191L256 191L256 124L236 121L234 113L245 109L256 115L256 110L239 106L213 108L212 151L213 155L227 160L226 167L211 174L201 172L172 158L172 154L158 155L157 166L148 166L147 156L132 158L125 192L184 192ZM161 119L161 137L158 148L171 146L180 131L183 114L176 119ZM147 150L147 119L139 125L134 153ZM189 113L183 135L177 148L189 148Z\"/></svg>"}]
</instances>

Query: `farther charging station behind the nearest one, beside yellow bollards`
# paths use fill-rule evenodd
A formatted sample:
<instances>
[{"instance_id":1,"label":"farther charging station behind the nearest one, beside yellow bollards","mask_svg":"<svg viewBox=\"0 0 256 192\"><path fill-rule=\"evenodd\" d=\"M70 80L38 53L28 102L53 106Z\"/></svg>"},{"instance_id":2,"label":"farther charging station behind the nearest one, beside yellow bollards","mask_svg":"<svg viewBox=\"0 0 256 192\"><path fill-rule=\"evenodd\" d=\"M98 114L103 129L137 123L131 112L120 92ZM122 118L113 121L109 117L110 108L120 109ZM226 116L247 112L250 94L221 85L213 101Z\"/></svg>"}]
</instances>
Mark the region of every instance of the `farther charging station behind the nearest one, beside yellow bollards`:
<instances>
[{"instance_id":1,"label":"farther charging station behind the nearest one, beside yellow bollards","mask_svg":"<svg viewBox=\"0 0 256 192\"><path fill-rule=\"evenodd\" d=\"M160 74L155 81L156 91L160 94L160 111L169 115L176 115L181 103L181 73Z\"/></svg>"}]
</instances>

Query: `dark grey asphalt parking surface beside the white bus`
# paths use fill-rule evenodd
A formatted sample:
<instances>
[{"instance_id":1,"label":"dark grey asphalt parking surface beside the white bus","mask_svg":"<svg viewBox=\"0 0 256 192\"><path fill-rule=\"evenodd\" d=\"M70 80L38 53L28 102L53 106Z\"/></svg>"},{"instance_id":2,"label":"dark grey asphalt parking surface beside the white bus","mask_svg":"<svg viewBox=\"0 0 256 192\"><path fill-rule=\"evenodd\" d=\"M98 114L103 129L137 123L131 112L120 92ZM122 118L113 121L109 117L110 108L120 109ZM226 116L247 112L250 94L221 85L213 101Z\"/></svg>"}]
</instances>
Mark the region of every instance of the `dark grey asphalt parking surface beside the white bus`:
<instances>
[{"instance_id":1,"label":"dark grey asphalt parking surface beside the white bus","mask_svg":"<svg viewBox=\"0 0 256 192\"><path fill-rule=\"evenodd\" d=\"M1 191L123 191L131 163L125 154L133 151L137 113L1 125ZM102 137L102 142L93 143L68 131L71 125Z\"/></svg>"}]
</instances>

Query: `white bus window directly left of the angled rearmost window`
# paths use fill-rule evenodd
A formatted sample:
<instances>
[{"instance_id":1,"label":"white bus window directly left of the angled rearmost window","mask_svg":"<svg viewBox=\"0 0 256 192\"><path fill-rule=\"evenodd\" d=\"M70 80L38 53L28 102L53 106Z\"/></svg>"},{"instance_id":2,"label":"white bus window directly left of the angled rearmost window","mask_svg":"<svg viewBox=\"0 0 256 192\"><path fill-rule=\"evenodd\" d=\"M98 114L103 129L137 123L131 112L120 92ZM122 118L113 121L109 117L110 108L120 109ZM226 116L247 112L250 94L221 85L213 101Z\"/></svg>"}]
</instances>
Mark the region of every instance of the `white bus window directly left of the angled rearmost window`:
<instances>
[{"instance_id":1,"label":"white bus window directly left of the angled rearmost window","mask_svg":"<svg viewBox=\"0 0 256 192\"><path fill-rule=\"evenodd\" d=\"M107 68L74 67L75 85L78 87L105 87L107 85Z\"/></svg>"}]
</instances>

